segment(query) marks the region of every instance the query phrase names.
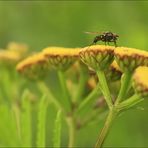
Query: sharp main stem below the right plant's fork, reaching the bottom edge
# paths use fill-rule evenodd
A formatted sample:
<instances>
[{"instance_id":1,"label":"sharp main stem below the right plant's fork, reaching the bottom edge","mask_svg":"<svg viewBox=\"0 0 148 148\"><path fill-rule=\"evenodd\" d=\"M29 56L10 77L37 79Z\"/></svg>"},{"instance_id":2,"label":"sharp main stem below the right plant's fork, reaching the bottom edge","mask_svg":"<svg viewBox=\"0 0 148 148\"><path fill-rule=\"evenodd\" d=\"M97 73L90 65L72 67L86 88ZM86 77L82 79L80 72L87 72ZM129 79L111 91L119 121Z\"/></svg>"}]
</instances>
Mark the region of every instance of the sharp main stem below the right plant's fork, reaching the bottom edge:
<instances>
[{"instance_id":1,"label":"sharp main stem below the right plant's fork, reaching the bottom edge","mask_svg":"<svg viewBox=\"0 0 148 148\"><path fill-rule=\"evenodd\" d=\"M107 135L108 135L108 132L110 130L110 127L112 125L112 122L114 120L114 118L116 117L117 115L117 111L115 109L112 109L109 111L109 114L106 118L106 121L105 121L105 124L104 124L104 127L103 129L101 130L101 133L99 135L99 138L97 140L97 143L95 145L95 148L101 148Z\"/></svg>"}]
</instances>

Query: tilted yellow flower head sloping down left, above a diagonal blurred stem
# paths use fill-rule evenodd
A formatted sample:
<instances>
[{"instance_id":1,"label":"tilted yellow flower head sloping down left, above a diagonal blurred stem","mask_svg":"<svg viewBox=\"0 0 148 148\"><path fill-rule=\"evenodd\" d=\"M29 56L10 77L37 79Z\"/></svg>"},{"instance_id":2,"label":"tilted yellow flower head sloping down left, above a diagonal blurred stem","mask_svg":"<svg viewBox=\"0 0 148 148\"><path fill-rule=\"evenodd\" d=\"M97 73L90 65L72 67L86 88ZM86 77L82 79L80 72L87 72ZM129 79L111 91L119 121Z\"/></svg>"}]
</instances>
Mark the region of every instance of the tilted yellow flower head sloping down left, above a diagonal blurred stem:
<instances>
[{"instance_id":1,"label":"tilted yellow flower head sloping down left, above a diagonal blurred stem","mask_svg":"<svg viewBox=\"0 0 148 148\"><path fill-rule=\"evenodd\" d=\"M42 79L48 71L48 62L42 53L32 55L20 63L16 69L30 79Z\"/></svg>"}]
</instances>

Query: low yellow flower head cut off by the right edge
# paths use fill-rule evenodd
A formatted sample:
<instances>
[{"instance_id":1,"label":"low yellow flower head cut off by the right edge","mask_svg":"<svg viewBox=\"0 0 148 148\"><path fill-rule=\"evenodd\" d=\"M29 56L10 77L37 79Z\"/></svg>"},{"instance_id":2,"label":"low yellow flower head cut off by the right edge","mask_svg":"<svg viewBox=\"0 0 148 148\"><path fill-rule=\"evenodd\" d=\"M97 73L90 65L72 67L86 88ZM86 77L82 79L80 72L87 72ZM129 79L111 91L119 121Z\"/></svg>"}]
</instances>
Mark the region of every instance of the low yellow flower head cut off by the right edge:
<instances>
[{"instance_id":1,"label":"low yellow flower head cut off by the right edge","mask_svg":"<svg viewBox=\"0 0 148 148\"><path fill-rule=\"evenodd\" d=\"M148 67L138 67L133 75L134 88L142 97L148 97Z\"/></svg>"}]
</instances>

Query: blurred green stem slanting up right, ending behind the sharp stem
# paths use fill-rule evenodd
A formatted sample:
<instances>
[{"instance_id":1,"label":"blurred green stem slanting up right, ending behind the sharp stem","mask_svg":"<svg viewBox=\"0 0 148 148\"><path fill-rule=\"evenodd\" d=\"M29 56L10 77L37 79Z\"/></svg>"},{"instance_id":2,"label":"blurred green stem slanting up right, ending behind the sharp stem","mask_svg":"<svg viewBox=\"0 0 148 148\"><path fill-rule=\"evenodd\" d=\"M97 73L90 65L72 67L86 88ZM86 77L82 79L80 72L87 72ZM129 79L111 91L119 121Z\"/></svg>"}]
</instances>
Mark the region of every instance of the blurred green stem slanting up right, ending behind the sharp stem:
<instances>
[{"instance_id":1,"label":"blurred green stem slanting up right, ending behind the sharp stem","mask_svg":"<svg viewBox=\"0 0 148 148\"><path fill-rule=\"evenodd\" d=\"M86 113L88 107L90 107L91 102L94 101L94 98L96 98L100 91L99 91L99 83L97 84L97 86L95 87L95 89L93 89L93 91L84 99L84 101L82 101L82 103L79 105L78 109L77 109L77 113Z\"/></svg>"}]
</instances>

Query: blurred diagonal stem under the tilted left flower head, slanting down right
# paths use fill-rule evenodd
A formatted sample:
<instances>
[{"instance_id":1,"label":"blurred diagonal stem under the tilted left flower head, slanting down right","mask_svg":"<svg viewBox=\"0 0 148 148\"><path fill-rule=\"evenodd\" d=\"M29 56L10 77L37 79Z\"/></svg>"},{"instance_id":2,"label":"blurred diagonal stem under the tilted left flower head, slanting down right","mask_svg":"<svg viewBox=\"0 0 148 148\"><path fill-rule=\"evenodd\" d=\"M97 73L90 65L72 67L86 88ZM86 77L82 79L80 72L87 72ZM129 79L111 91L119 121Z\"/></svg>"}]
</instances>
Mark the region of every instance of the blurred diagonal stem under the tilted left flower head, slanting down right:
<instances>
[{"instance_id":1,"label":"blurred diagonal stem under the tilted left flower head, slanting down right","mask_svg":"<svg viewBox=\"0 0 148 148\"><path fill-rule=\"evenodd\" d=\"M62 109L61 104L60 104L60 103L57 101L57 99L53 96L51 90L50 90L49 88L47 88L47 86L45 85L44 82L39 81L39 82L37 83L37 85L38 85L39 90L40 90L42 93L45 93L45 94L48 96L49 100L51 100L51 102L55 105L55 107L56 107L57 109Z\"/></svg>"}]
</instances>

